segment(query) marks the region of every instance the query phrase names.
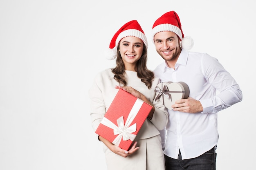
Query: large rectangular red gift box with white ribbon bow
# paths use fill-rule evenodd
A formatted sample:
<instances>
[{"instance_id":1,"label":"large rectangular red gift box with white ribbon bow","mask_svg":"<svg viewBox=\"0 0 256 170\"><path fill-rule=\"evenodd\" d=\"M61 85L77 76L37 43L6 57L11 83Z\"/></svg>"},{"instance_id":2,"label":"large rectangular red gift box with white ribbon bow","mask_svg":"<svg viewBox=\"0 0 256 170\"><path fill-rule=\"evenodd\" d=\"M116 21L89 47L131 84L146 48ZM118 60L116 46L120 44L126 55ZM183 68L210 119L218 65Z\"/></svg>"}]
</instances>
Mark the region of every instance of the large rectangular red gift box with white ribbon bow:
<instances>
[{"instance_id":1,"label":"large rectangular red gift box with white ribbon bow","mask_svg":"<svg viewBox=\"0 0 256 170\"><path fill-rule=\"evenodd\" d=\"M119 89L95 133L128 150L152 106Z\"/></svg>"}]
</instances>

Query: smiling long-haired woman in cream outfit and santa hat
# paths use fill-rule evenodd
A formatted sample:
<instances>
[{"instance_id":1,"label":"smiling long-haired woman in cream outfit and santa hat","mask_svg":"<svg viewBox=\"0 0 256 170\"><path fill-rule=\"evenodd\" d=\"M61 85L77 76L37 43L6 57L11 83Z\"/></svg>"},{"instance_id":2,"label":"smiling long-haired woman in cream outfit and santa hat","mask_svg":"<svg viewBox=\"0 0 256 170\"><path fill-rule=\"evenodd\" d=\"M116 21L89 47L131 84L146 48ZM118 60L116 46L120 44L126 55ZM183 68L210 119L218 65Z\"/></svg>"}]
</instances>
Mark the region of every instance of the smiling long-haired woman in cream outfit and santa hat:
<instances>
[{"instance_id":1,"label":"smiling long-haired woman in cream outfit and santa hat","mask_svg":"<svg viewBox=\"0 0 256 170\"><path fill-rule=\"evenodd\" d=\"M89 90L94 131L119 88L153 106L129 150L98 136L104 144L108 170L165 169L159 130L166 126L168 113L159 100L154 100L159 79L147 69L147 47L147 39L139 23L132 20L124 24L110 42L111 59L116 58L116 67L99 73Z\"/></svg>"}]
</instances>

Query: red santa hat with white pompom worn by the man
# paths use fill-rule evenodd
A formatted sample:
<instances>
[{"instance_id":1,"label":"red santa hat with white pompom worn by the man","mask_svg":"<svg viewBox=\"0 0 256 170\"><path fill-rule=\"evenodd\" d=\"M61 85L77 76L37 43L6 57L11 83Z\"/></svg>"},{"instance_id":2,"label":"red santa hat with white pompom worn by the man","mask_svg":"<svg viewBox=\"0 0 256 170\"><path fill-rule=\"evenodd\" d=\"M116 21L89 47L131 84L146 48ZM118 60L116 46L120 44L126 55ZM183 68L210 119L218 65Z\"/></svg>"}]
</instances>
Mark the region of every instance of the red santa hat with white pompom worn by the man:
<instances>
[{"instance_id":1,"label":"red santa hat with white pompom worn by the man","mask_svg":"<svg viewBox=\"0 0 256 170\"><path fill-rule=\"evenodd\" d=\"M193 39L191 37L184 37L181 29L180 18L175 11L167 12L155 21L152 27L153 43L155 43L155 34L162 31L171 31L175 33L181 40L182 49L190 50L194 45Z\"/></svg>"}]
</instances>

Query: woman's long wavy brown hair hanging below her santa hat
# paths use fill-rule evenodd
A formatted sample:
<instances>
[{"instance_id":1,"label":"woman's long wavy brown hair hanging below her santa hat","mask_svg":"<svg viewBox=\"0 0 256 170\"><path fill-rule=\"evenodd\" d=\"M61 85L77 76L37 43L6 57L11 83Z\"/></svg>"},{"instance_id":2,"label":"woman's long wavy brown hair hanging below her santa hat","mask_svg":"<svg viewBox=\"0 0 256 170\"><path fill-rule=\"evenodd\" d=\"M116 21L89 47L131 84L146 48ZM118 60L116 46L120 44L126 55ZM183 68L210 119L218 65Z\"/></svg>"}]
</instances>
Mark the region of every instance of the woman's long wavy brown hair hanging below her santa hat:
<instances>
[{"instance_id":1,"label":"woman's long wavy brown hair hanging below her santa hat","mask_svg":"<svg viewBox=\"0 0 256 170\"><path fill-rule=\"evenodd\" d=\"M124 86L127 85L126 82L126 77L125 77L125 68L124 68L124 62L122 60L122 57L119 53L119 47L120 42L117 46L117 60L116 60L116 67L112 68L112 73L114 73L114 79L119 82L119 84L123 84ZM141 79L141 82L144 82L148 88L151 88L152 86L152 81L154 79L154 73L153 71L148 70L147 68L147 49L145 44L143 43L143 51L142 51L142 56L140 59L137 61L136 66L135 66L135 71L137 71L137 76Z\"/></svg>"}]
</instances>

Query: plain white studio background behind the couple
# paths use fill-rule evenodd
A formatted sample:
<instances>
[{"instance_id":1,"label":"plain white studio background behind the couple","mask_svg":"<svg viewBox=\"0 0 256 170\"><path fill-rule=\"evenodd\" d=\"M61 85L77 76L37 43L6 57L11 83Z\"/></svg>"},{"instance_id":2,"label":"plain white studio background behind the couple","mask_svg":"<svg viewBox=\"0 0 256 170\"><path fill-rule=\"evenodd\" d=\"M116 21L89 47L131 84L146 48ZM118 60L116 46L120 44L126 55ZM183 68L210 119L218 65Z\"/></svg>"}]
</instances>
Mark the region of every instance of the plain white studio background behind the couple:
<instances>
[{"instance_id":1,"label":"plain white studio background behind the couple","mask_svg":"<svg viewBox=\"0 0 256 170\"><path fill-rule=\"evenodd\" d=\"M106 170L88 88L114 66L104 50L130 20L148 37L148 68L163 62L150 31L173 10L194 40L191 51L218 58L243 91L242 102L218 113L217 169L254 169L255 7L252 0L1 0L0 170Z\"/></svg>"}]
</instances>

